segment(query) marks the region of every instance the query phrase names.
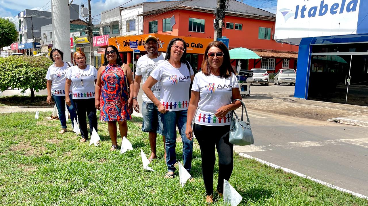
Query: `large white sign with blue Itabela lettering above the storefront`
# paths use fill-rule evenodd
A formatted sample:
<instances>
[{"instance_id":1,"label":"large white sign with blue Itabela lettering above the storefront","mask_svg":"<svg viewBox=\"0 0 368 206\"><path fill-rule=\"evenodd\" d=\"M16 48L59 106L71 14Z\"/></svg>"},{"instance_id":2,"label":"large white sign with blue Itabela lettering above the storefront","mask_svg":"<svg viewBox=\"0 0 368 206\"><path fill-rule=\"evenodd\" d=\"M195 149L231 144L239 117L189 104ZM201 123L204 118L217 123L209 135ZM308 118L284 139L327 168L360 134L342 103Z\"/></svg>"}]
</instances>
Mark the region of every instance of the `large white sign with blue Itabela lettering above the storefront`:
<instances>
[{"instance_id":1,"label":"large white sign with blue Itabela lettering above the storefront","mask_svg":"<svg viewBox=\"0 0 368 206\"><path fill-rule=\"evenodd\" d=\"M362 18L367 14L364 1L278 0L275 39L359 33L359 26L367 27Z\"/></svg>"}]
</instances>

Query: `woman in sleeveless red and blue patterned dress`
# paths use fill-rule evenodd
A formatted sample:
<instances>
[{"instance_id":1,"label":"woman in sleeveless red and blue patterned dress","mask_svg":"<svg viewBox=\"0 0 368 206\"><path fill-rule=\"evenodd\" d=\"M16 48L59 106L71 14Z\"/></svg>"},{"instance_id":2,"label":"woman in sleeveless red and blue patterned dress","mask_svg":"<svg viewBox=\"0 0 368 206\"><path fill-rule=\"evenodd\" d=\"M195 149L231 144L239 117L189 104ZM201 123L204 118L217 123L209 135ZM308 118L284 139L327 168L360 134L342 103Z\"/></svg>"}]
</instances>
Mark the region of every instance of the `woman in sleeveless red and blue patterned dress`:
<instances>
[{"instance_id":1,"label":"woman in sleeveless red and blue patterned dress","mask_svg":"<svg viewBox=\"0 0 368 206\"><path fill-rule=\"evenodd\" d=\"M105 50L105 63L99 68L95 88L95 106L100 110L100 120L107 122L112 147L117 149L116 122L121 138L127 137L127 120L131 119L129 108L133 105L133 93L128 94L125 75L130 89L133 88L133 75L130 67L123 64L115 46Z\"/></svg>"}]
</instances>

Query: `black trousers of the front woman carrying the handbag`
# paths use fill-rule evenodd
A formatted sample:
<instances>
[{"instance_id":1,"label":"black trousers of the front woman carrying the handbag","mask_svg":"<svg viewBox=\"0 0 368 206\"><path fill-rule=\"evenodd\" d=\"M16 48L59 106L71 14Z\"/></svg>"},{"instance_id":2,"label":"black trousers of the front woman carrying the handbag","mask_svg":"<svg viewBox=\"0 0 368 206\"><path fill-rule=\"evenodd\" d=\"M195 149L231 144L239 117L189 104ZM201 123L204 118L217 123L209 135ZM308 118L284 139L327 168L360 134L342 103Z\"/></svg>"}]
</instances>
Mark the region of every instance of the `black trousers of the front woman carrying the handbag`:
<instances>
[{"instance_id":1,"label":"black trousers of the front woman carrying the handbag","mask_svg":"<svg viewBox=\"0 0 368 206\"><path fill-rule=\"evenodd\" d=\"M215 146L219 156L219 179L217 191L223 193L224 179L229 181L233 172L233 148L229 142L230 125L203 126L193 125L193 133L201 148L202 176L205 183L206 194L213 193L213 168L215 167Z\"/></svg>"}]
</instances>

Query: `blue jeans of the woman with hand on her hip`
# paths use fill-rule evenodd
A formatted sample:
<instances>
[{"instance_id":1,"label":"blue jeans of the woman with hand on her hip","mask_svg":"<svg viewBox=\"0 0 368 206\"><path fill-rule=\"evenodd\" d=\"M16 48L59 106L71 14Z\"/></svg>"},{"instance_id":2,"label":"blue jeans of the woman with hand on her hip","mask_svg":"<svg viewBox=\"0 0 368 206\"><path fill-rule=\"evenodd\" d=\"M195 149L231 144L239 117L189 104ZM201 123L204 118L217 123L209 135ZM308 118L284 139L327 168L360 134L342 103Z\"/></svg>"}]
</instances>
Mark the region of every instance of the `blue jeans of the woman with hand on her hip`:
<instances>
[{"instance_id":1,"label":"blue jeans of the woman with hand on her hip","mask_svg":"<svg viewBox=\"0 0 368 206\"><path fill-rule=\"evenodd\" d=\"M161 120L166 138L166 162L167 170L175 171L174 164L176 163L176 126L178 126L181 141L183 141L183 166L189 172L192 168L193 156L193 140L188 140L185 135L187 124L187 110L166 112L161 114Z\"/></svg>"}]
</instances>

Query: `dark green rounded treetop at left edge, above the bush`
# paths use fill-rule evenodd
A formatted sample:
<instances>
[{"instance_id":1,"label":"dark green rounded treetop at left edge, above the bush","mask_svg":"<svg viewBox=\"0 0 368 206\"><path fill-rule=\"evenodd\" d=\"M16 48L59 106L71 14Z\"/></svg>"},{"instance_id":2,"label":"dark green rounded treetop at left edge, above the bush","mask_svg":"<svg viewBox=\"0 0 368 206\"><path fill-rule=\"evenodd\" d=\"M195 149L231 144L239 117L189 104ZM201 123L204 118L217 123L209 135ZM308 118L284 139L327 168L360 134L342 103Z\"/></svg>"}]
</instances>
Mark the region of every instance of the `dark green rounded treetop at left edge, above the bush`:
<instances>
[{"instance_id":1,"label":"dark green rounded treetop at left edge, above the bush","mask_svg":"<svg viewBox=\"0 0 368 206\"><path fill-rule=\"evenodd\" d=\"M18 40L15 24L9 19L0 18L0 47L7 47Z\"/></svg>"}]
</instances>

